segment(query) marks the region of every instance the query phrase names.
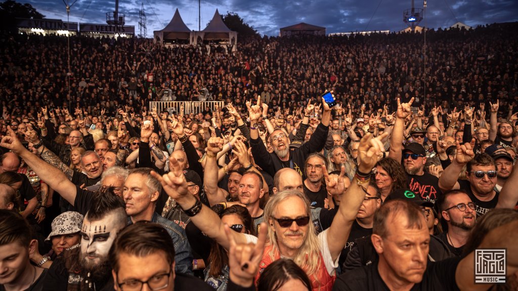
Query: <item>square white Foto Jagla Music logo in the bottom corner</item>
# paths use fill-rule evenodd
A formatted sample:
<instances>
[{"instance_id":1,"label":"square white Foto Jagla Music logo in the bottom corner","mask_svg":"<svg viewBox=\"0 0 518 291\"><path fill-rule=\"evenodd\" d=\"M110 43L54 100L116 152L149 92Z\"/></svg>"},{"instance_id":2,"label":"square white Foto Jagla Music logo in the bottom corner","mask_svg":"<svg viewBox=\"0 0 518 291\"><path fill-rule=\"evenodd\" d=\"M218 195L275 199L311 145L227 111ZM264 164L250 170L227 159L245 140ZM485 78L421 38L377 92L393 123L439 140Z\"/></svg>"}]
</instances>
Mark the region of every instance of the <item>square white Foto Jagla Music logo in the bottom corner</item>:
<instances>
[{"instance_id":1,"label":"square white Foto Jagla Music logo in the bottom corner","mask_svg":"<svg viewBox=\"0 0 518 291\"><path fill-rule=\"evenodd\" d=\"M475 250L475 284L506 283L507 249Z\"/></svg>"}]
</instances>

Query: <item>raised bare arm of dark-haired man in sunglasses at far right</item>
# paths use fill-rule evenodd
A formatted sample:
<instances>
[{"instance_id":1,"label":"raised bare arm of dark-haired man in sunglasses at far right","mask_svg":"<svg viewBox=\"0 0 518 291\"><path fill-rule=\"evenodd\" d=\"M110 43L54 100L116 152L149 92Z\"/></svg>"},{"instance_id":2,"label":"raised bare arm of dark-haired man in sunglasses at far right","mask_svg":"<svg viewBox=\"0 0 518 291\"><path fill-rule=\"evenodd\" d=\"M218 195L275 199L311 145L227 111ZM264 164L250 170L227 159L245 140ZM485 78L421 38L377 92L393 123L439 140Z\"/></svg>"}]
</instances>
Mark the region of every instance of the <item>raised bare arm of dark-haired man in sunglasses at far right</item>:
<instances>
[{"instance_id":1,"label":"raised bare arm of dark-haired man in sunglasses at far right","mask_svg":"<svg viewBox=\"0 0 518 291\"><path fill-rule=\"evenodd\" d=\"M455 154L455 159L453 159L450 166L444 169L444 172L442 172L442 175L439 178L439 189L442 192L458 189L460 187L457 182L458 175L461 173L464 165L471 161L475 156L470 143L461 145L457 142L456 147L457 153Z\"/></svg>"}]
</instances>

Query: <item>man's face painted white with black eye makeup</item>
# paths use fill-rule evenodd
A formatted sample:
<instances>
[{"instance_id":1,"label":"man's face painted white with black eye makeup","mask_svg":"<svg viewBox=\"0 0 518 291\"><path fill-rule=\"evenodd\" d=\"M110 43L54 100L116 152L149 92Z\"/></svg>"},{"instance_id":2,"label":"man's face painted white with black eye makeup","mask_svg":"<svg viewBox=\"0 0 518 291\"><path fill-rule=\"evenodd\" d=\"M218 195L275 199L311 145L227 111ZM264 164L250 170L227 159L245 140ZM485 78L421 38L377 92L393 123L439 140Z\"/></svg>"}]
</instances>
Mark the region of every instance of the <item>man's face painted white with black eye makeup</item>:
<instances>
[{"instance_id":1,"label":"man's face painted white with black eye makeup","mask_svg":"<svg viewBox=\"0 0 518 291\"><path fill-rule=\"evenodd\" d=\"M102 220L98 221L90 221L88 214L84 217L80 232L81 256L88 266L97 266L108 256L108 251L120 228L112 223L116 219L116 213L114 212L108 213Z\"/></svg>"}]
</instances>

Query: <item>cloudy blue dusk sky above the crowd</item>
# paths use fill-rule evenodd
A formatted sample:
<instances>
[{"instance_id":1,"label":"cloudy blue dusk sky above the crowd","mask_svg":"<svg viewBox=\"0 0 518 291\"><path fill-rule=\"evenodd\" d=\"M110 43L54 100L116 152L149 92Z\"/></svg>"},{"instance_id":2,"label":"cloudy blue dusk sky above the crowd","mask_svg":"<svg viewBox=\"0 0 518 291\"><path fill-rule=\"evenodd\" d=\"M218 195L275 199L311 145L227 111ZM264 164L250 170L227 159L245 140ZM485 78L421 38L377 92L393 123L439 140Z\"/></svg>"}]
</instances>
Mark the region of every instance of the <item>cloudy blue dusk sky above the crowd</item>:
<instances>
[{"instance_id":1,"label":"cloudy blue dusk sky above the crowd","mask_svg":"<svg viewBox=\"0 0 518 291\"><path fill-rule=\"evenodd\" d=\"M49 19L67 20L65 4L76 0L18 0L29 3ZM139 10L147 16L147 37L161 30L178 8L185 24L198 30L196 0L119 0L119 12L126 25L139 34ZM411 0L201 0L201 28L207 26L216 9L220 14L235 12L261 35L278 36L279 28L306 22L326 27L326 33L356 31L400 31L408 27L403 11ZM423 8L415 0L415 8ZM70 8L70 21L106 23L106 12L115 9L115 0L77 0ZM428 0L420 26L446 28L457 21L470 26L518 21L516 0Z\"/></svg>"}]
</instances>

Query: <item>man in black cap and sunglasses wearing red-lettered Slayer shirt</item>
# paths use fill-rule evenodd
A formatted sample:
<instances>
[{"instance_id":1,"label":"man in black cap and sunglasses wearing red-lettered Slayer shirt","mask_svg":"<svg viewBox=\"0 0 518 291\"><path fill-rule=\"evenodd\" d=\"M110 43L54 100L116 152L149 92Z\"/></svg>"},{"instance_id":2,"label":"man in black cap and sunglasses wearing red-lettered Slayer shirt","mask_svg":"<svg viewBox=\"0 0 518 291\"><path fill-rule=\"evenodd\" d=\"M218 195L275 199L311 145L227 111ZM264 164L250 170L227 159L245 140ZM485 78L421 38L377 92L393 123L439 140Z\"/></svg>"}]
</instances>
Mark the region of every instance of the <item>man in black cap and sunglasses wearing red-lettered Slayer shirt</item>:
<instances>
[{"instance_id":1,"label":"man in black cap and sunglasses wearing red-lettered Slayer shirt","mask_svg":"<svg viewBox=\"0 0 518 291\"><path fill-rule=\"evenodd\" d=\"M435 203L441 195L439 179L424 171L427 159L424 147L417 142L411 142L405 146L402 158L410 190L419 194L421 199Z\"/></svg>"}]
</instances>

